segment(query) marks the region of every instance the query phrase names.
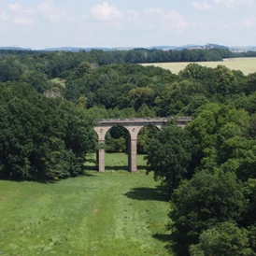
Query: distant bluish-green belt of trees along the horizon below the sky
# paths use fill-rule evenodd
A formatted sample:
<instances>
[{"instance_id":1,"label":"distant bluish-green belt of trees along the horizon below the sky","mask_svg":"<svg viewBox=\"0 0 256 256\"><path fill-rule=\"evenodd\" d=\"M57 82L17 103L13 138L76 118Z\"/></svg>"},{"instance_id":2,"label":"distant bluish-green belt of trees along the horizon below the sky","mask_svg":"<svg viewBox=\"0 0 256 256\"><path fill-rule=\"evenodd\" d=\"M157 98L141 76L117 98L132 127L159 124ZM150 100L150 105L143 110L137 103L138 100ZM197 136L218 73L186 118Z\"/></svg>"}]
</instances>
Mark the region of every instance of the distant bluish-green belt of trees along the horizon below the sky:
<instances>
[{"instance_id":1,"label":"distant bluish-green belt of trees along the horizon below the sky","mask_svg":"<svg viewBox=\"0 0 256 256\"><path fill-rule=\"evenodd\" d=\"M144 63L177 63L177 62L214 62L224 58L255 57L256 51L235 53L228 49L184 49L184 50L79 50L43 51L43 50L0 50L1 69L27 64L36 64L37 71L46 73L50 78L59 78L65 70L73 69L82 61L95 65L103 64L144 64ZM6 71L7 72L7 71ZM6 73L5 72L5 73ZM5 74L4 73L4 74ZM3 75L4 75L3 74ZM2 75L2 76L3 76ZM5 77L5 76L3 76ZM3 80L3 78L1 78Z\"/></svg>"}]
</instances>

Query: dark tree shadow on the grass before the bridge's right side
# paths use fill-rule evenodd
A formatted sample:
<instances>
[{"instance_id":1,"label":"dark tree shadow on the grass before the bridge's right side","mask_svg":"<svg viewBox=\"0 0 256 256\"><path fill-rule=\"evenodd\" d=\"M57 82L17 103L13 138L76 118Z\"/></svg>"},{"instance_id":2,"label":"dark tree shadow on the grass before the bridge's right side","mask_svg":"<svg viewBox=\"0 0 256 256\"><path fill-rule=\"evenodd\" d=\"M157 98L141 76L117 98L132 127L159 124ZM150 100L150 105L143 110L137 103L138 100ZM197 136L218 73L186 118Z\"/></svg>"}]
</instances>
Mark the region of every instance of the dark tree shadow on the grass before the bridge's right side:
<instances>
[{"instance_id":1,"label":"dark tree shadow on the grass before the bridge's right side","mask_svg":"<svg viewBox=\"0 0 256 256\"><path fill-rule=\"evenodd\" d=\"M163 186L157 188L134 188L131 192L126 192L124 195L134 200L154 200L168 202L168 194Z\"/></svg>"}]
</instances>

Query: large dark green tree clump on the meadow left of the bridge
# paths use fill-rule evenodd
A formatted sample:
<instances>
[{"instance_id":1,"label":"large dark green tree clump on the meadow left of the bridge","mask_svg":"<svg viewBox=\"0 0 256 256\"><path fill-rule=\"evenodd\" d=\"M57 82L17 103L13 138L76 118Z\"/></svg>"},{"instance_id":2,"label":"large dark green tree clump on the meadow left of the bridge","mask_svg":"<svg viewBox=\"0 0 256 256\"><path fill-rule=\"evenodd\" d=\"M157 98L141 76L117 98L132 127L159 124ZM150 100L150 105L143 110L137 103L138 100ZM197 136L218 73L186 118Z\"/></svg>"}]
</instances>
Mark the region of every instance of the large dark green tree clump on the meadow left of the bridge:
<instances>
[{"instance_id":1,"label":"large dark green tree clump on the meadow left of the bridge","mask_svg":"<svg viewBox=\"0 0 256 256\"><path fill-rule=\"evenodd\" d=\"M52 180L83 173L95 140L84 110L28 84L0 86L0 177Z\"/></svg>"}]
</instances>

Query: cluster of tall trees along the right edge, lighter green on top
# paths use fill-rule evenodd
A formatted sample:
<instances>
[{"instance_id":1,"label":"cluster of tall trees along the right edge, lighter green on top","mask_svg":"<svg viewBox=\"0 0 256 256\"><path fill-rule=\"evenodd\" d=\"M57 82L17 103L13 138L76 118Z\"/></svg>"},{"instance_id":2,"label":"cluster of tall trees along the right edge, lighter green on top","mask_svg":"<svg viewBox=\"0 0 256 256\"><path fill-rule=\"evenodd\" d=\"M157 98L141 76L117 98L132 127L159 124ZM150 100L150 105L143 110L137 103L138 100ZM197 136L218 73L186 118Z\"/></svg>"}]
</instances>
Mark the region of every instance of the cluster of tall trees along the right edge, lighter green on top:
<instances>
[{"instance_id":1,"label":"cluster of tall trees along the right edge, lighter green on top","mask_svg":"<svg viewBox=\"0 0 256 256\"><path fill-rule=\"evenodd\" d=\"M196 174L172 197L174 249L188 255L193 244L192 255L255 255L254 117L221 104L199 107L194 116L188 130Z\"/></svg>"}]
</instances>

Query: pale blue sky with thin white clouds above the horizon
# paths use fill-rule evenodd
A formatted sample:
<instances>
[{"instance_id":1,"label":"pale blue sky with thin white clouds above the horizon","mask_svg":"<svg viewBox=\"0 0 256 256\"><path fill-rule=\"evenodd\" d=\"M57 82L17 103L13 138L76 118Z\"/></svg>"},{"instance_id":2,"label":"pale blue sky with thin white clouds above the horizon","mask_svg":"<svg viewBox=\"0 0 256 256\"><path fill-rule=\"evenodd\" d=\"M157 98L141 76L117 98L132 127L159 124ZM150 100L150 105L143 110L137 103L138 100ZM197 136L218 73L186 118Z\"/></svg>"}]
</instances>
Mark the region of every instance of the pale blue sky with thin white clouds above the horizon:
<instances>
[{"instance_id":1,"label":"pale blue sky with thin white clouds above the horizon","mask_svg":"<svg viewBox=\"0 0 256 256\"><path fill-rule=\"evenodd\" d=\"M256 45L256 0L1 0L0 47Z\"/></svg>"}]
</instances>

